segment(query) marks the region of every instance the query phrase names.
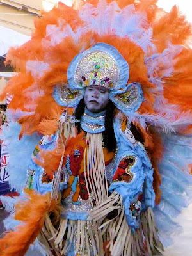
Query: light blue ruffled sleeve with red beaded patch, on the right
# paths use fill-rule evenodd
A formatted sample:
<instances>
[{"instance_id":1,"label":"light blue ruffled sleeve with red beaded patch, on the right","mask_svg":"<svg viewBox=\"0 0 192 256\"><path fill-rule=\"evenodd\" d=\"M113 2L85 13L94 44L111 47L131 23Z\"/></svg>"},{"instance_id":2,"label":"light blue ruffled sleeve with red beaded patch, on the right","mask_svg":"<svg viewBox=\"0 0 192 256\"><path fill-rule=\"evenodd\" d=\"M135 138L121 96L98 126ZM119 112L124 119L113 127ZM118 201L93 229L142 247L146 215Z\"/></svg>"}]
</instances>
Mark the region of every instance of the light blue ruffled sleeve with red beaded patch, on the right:
<instances>
[{"instance_id":1,"label":"light blue ruffled sleeve with red beaded patch, on the right","mask_svg":"<svg viewBox=\"0 0 192 256\"><path fill-rule=\"evenodd\" d=\"M109 191L122 197L127 223L134 231L139 228L141 212L154 207L153 169L145 147L138 141L131 143L120 122L115 123L115 135L118 152Z\"/></svg>"}]
</instances>

